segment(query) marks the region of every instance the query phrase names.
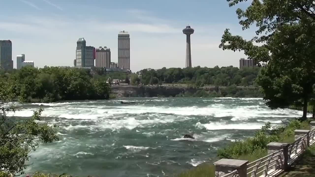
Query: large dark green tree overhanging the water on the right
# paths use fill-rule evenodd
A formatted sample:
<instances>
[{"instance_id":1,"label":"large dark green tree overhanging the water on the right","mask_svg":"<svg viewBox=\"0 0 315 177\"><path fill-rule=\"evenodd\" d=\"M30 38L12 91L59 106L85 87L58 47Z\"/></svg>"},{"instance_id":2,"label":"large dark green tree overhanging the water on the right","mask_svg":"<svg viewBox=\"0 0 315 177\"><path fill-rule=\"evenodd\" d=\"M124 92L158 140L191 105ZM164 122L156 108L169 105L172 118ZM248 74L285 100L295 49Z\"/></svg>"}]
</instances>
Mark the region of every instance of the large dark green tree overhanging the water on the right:
<instances>
[{"instance_id":1,"label":"large dark green tree overhanging the water on the right","mask_svg":"<svg viewBox=\"0 0 315 177\"><path fill-rule=\"evenodd\" d=\"M227 1L234 6L246 0ZM264 62L257 84L264 90L267 105L302 106L304 119L315 83L314 7L308 0L253 0L245 11L237 9L236 13L243 30L254 24L258 27L256 36L245 40L226 29L219 46L223 50L243 50L249 59Z\"/></svg>"}]
</instances>

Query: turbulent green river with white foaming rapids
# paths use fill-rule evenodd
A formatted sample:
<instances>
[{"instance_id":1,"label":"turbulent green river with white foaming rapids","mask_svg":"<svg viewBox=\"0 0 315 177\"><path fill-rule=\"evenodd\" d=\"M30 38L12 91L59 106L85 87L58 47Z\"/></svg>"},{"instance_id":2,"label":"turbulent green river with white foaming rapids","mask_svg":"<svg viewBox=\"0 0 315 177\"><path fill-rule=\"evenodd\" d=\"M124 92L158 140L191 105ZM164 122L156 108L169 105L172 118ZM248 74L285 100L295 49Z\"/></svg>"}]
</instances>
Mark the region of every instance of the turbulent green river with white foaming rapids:
<instances>
[{"instance_id":1,"label":"turbulent green river with white foaming rapids","mask_svg":"<svg viewBox=\"0 0 315 177\"><path fill-rule=\"evenodd\" d=\"M39 107L44 122L59 126L60 141L41 143L31 153L29 174L161 177L215 161L218 148L252 136L268 121L280 124L302 116L296 110L271 110L257 98L32 103L20 106L14 116L30 117ZM184 134L196 139L184 140Z\"/></svg>"}]
</instances>

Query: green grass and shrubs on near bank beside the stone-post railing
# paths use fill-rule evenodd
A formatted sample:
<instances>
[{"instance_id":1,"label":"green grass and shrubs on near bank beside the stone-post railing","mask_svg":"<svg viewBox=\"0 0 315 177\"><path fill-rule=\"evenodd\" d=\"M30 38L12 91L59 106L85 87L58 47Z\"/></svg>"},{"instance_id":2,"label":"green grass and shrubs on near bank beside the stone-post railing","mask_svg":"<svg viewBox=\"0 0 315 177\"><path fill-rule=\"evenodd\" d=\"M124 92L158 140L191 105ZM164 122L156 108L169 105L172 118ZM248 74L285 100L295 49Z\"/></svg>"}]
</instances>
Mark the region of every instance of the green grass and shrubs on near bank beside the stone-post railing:
<instances>
[{"instance_id":1,"label":"green grass and shrubs on near bank beside the stone-post railing","mask_svg":"<svg viewBox=\"0 0 315 177\"><path fill-rule=\"evenodd\" d=\"M300 122L298 120L292 120L287 125L272 127L266 124L260 130L255 133L254 137L247 138L245 140L238 140L225 148L218 150L218 159L238 159L247 160L253 162L261 157L265 157L267 153L267 144L270 142L282 142L293 143L294 142L294 130L306 129L309 130L311 120ZM308 151L311 153L311 151ZM309 154L308 153L308 154ZM315 153L315 148L313 148ZM307 154L307 153L306 153ZM313 157L314 158L314 157ZM307 159L306 159L307 161ZM305 162L304 162L305 163ZM301 169L301 167L298 167ZM294 173L293 173L294 174ZM309 174L309 173L308 173ZM195 168L175 174L173 177L215 177L215 166L213 163L203 163ZM290 175L288 177L293 177Z\"/></svg>"}]
</instances>

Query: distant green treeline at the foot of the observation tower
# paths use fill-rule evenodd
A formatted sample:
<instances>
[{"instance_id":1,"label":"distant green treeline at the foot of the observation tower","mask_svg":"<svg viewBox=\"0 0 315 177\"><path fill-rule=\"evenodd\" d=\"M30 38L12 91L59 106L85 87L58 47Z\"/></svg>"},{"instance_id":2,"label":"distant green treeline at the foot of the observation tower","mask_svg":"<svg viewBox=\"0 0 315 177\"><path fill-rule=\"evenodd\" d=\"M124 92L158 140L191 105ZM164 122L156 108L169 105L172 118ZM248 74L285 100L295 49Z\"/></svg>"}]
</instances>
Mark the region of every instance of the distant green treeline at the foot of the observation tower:
<instances>
[{"instance_id":1,"label":"distant green treeline at the foot of the observation tower","mask_svg":"<svg viewBox=\"0 0 315 177\"><path fill-rule=\"evenodd\" d=\"M131 84L155 85L162 83L187 83L203 87L204 85L250 86L255 84L260 67L193 67L193 68L169 68L154 70L143 69L138 72L140 77L133 75Z\"/></svg>"}]
</instances>

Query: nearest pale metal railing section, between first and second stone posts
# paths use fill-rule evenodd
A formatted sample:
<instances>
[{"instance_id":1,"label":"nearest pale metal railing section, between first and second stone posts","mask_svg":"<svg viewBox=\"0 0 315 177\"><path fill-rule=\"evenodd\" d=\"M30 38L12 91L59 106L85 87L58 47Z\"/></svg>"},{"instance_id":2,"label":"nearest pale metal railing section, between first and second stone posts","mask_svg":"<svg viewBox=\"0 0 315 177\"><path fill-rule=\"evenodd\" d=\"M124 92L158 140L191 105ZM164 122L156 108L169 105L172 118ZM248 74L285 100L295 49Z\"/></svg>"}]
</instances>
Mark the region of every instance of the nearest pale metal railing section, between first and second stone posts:
<instances>
[{"instance_id":1,"label":"nearest pale metal railing section, between first and second stone posts","mask_svg":"<svg viewBox=\"0 0 315 177\"><path fill-rule=\"evenodd\" d=\"M247 176L257 177L268 175L270 170L274 171L280 168L280 165L284 163L283 150L276 151L265 157L262 157L254 162L247 164Z\"/></svg>"}]
</instances>

